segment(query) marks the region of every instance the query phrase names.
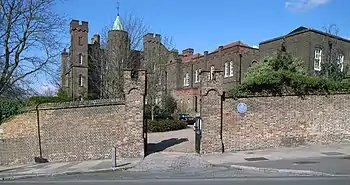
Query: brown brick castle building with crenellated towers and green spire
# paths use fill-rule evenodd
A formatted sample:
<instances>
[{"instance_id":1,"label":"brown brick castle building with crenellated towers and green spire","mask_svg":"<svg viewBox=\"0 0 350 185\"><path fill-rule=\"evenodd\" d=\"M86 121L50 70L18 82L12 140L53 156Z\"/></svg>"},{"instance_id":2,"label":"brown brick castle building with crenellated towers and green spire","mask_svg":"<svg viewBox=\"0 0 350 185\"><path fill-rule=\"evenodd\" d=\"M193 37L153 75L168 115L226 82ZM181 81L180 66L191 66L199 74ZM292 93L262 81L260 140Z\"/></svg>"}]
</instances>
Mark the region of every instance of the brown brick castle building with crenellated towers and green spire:
<instances>
[{"instance_id":1,"label":"brown brick castle building with crenellated towers and green spire","mask_svg":"<svg viewBox=\"0 0 350 185\"><path fill-rule=\"evenodd\" d=\"M259 48L235 41L214 51L195 53L193 48L169 50L161 35L148 33L143 37L143 51L130 48L129 35L119 15L108 32L107 46L102 47L95 34L88 43L88 23L72 20L71 45L61 56L61 88L74 99L118 98L122 96L124 68L147 70L148 104L161 104L170 94L178 102L179 112L199 114L200 72L224 72L223 88L229 91L244 80L254 63L286 45L287 52L300 57L311 74L322 70L324 55L337 51L345 68L350 59L350 41L318 30L299 27L292 32L263 41ZM326 42L327 41L327 42ZM210 79L210 77L209 77Z\"/></svg>"}]
</instances>

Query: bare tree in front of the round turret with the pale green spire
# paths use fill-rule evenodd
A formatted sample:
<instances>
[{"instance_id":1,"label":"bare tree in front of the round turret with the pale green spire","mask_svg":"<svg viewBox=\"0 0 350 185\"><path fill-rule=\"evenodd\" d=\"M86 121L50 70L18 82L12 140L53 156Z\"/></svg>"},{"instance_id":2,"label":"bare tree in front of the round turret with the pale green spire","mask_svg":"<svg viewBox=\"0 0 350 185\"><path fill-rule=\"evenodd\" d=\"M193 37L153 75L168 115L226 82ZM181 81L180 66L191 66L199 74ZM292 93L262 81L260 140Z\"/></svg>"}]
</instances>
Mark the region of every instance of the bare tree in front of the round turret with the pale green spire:
<instances>
[{"instance_id":1,"label":"bare tree in front of the round turret with the pale green spire","mask_svg":"<svg viewBox=\"0 0 350 185\"><path fill-rule=\"evenodd\" d=\"M143 19L131 13L124 17L124 30L128 33L128 38L110 38L117 39L115 40L117 44L108 45L108 32L112 30L113 25L111 22L102 29L100 45L93 46L90 51L89 68L94 71L94 74L91 74L93 77L90 85L98 89L101 98L120 94L123 90L123 69L138 68L142 60L143 36L147 33L149 26Z\"/></svg>"}]
</instances>

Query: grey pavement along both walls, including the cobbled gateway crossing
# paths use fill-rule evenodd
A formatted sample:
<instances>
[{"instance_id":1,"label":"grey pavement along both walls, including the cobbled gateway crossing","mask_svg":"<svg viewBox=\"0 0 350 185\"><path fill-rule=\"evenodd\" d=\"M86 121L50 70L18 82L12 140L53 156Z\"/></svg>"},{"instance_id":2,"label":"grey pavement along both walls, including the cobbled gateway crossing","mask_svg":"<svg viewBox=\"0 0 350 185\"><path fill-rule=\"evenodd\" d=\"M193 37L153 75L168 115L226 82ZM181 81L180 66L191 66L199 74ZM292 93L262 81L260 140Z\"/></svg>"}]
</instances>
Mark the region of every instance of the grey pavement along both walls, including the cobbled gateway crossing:
<instances>
[{"instance_id":1,"label":"grey pavement along both walls, including the cobbled gateway crossing","mask_svg":"<svg viewBox=\"0 0 350 185\"><path fill-rule=\"evenodd\" d=\"M169 145L169 147L174 145ZM313 145L207 155L160 151L144 159L118 160L116 168L111 167L110 159L0 167L0 180L74 174L84 176L88 172L104 172L109 175L115 173L119 174L118 178L163 178L165 176L186 178L190 176L203 179L238 176L350 177L349 156L350 145Z\"/></svg>"}]
</instances>

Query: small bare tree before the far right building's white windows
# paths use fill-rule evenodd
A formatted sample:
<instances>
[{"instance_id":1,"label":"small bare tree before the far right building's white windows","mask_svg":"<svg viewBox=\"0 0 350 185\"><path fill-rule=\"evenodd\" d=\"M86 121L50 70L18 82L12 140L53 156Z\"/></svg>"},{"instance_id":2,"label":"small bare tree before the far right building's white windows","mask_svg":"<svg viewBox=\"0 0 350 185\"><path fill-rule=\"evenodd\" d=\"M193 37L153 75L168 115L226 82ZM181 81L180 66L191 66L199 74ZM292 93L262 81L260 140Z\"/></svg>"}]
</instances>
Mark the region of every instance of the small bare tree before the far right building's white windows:
<instances>
[{"instance_id":1,"label":"small bare tree before the far right building's white windows","mask_svg":"<svg viewBox=\"0 0 350 185\"><path fill-rule=\"evenodd\" d=\"M335 81L343 80L348 73L348 64L344 62L344 52L338 46L338 39L331 35L337 36L339 29L335 24L324 26L328 34L323 39L325 51L322 53L322 70L319 75L325 76Z\"/></svg>"}]
</instances>

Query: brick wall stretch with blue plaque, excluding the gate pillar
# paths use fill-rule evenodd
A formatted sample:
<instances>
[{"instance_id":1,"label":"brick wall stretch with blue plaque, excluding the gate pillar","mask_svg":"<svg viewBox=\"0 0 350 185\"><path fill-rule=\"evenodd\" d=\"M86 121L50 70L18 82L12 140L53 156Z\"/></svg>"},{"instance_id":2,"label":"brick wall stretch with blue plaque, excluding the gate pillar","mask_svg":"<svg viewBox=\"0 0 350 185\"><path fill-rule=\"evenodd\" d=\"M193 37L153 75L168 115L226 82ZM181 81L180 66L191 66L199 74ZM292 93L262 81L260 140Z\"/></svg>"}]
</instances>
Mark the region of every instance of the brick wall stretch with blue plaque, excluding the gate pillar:
<instances>
[{"instance_id":1,"label":"brick wall stretch with blue plaque, excluding the gate pillar","mask_svg":"<svg viewBox=\"0 0 350 185\"><path fill-rule=\"evenodd\" d=\"M246 113L237 112L238 103L246 103ZM350 144L350 94L226 99L223 105L226 151Z\"/></svg>"}]
</instances>

